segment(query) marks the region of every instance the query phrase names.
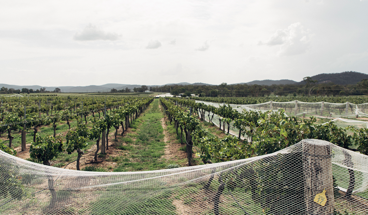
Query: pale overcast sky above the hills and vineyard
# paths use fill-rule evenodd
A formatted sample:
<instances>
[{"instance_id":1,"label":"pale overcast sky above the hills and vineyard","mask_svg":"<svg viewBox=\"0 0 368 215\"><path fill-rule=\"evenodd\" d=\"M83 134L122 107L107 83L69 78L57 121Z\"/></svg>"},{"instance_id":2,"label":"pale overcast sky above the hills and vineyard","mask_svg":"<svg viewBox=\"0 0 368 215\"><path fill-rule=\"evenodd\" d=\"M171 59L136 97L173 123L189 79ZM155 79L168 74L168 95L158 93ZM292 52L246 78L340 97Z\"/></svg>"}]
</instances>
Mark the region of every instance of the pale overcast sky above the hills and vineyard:
<instances>
[{"instance_id":1,"label":"pale overcast sky above the hills and vineyard","mask_svg":"<svg viewBox=\"0 0 368 215\"><path fill-rule=\"evenodd\" d=\"M368 0L0 0L0 83L368 74Z\"/></svg>"}]
</instances>

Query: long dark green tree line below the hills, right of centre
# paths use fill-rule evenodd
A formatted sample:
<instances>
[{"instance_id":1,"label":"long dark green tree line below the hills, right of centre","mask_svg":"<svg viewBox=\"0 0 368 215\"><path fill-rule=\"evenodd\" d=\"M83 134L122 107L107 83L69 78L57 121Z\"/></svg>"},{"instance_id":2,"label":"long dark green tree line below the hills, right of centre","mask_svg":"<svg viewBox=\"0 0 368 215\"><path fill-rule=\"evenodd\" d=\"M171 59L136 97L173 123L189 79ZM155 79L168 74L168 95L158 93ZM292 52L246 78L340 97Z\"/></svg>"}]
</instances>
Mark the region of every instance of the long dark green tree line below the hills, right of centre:
<instances>
[{"instance_id":1,"label":"long dark green tree line below the hills, right of centre","mask_svg":"<svg viewBox=\"0 0 368 215\"><path fill-rule=\"evenodd\" d=\"M302 84L272 84L267 85L248 85L248 84L227 84L220 85L164 85L160 87L148 87L142 85L130 90L112 89L112 93L144 92L171 93L173 95L189 96L195 94L199 97L264 97L274 94L276 96L354 96L368 94L368 79L363 79L357 84L334 84L317 83L311 77L305 77Z\"/></svg>"}]
</instances>

